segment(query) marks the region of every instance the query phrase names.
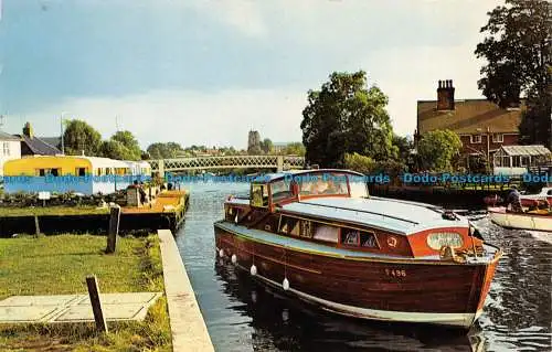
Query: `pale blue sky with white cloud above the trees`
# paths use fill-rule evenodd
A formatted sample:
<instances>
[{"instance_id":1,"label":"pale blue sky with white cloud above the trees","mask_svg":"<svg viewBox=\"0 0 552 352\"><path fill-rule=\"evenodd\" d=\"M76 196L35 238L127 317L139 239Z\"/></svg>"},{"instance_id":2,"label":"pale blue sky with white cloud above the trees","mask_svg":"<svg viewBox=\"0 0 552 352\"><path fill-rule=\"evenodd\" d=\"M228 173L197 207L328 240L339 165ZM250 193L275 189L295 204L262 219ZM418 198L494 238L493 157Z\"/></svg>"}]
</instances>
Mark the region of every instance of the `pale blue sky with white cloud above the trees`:
<instances>
[{"instance_id":1,"label":"pale blue sky with white cloud above the trees","mask_svg":"<svg viewBox=\"0 0 552 352\"><path fill-rule=\"evenodd\" d=\"M59 136L79 118L104 138L245 148L258 130L300 141L307 92L368 73L397 135L438 79L482 98L474 55L498 0L0 0L2 129Z\"/></svg>"}]
</instances>

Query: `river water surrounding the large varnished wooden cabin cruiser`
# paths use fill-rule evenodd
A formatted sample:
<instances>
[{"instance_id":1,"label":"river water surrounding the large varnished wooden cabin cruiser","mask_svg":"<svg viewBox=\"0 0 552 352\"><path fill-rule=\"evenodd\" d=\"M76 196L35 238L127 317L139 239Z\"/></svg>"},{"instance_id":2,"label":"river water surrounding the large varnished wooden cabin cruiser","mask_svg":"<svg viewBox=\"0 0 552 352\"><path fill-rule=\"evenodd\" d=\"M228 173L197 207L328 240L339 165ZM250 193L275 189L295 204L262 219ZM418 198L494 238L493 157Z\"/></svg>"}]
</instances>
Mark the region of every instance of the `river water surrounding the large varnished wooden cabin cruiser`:
<instances>
[{"instance_id":1,"label":"river water surrounding the large varnished wooden cabin cruiser","mask_svg":"<svg viewBox=\"0 0 552 352\"><path fill-rule=\"evenodd\" d=\"M469 333L342 318L280 297L231 264L220 264L213 222L229 194L247 184L197 183L177 235L216 351L551 351L550 237L475 223L505 249L485 312Z\"/></svg>"}]
</instances>

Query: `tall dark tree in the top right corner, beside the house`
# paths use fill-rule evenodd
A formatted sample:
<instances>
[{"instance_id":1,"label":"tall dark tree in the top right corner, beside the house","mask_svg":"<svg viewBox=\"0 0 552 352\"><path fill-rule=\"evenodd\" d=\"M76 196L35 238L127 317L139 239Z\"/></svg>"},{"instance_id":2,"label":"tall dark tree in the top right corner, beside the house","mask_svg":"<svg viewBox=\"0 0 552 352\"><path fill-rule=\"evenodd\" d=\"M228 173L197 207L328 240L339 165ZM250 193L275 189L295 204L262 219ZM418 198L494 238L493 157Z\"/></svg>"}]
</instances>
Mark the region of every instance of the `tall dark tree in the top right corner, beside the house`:
<instances>
[{"instance_id":1,"label":"tall dark tree in the top right corner, beside the house","mask_svg":"<svg viewBox=\"0 0 552 352\"><path fill-rule=\"evenodd\" d=\"M479 88L501 107L528 99L520 126L522 140L552 145L550 84L552 4L546 0L506 0L488 13L481 28L488 36L477 45L477 57L487 60Z\"/></svg>"}]
</instances>

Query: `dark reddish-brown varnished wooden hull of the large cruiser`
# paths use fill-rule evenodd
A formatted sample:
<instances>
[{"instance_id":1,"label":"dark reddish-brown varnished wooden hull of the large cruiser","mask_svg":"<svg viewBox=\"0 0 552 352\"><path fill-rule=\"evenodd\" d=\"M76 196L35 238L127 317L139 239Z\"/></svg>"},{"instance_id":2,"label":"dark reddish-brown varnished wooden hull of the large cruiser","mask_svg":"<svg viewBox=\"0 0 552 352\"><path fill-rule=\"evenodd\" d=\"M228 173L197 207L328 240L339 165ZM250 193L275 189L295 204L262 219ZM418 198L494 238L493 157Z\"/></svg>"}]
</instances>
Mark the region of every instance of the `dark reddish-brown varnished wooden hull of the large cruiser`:
<instances>
[{"instance_id":1,"label":"dark reddish-brown varnished wooden hull of the large cruiser","mask_svg":"<svg viewBox=\"0 0 552 352\"><path fill-rule=\"evenodd\" d=\"M467 329L482 311L498 262L328 256L263 243L224 224L215 223L219 255L247 271L255 266L257 279L305 301L363 319Z\"/></svg>"}]
</instances>

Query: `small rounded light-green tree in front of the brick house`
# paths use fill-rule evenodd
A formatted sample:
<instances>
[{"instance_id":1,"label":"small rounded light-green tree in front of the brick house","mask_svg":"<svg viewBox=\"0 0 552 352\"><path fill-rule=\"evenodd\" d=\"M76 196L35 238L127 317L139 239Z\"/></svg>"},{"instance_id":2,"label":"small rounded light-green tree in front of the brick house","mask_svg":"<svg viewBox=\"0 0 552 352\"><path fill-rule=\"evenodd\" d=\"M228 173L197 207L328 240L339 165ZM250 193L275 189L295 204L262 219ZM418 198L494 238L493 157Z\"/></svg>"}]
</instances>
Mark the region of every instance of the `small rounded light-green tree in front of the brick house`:
<instances>
[{"instance_id":1,"label":"small rounded light-green tree in front of the brick house","mask_svg":"<svg viewBox=\"0 0 552 352\"><path fill-rule=\"evenodd\" d=\"M417 145L422 168L444 172L453 170L453 160L459 154L461 141L452 130L435 130L423 135Z\"/></svg>"}]
</instances>

